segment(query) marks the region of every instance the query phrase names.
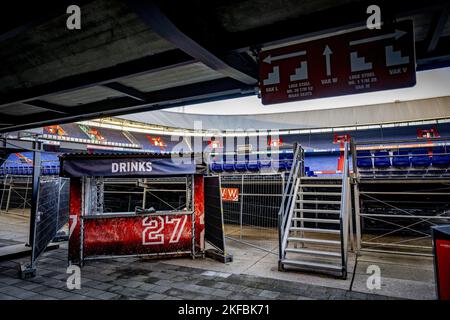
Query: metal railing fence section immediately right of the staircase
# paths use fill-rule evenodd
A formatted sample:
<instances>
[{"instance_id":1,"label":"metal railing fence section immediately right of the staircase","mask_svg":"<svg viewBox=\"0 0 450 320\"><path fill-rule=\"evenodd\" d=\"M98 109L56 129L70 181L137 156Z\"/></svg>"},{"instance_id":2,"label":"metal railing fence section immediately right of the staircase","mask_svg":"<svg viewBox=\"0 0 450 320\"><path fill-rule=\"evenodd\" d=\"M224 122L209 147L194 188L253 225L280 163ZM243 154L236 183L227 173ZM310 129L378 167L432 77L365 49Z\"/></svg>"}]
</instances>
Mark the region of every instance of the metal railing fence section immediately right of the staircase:
<instances>
[{"instance_id":1,"label":"metal railing fence section immediately right of the staircase","mask_svg":"<svg viewBox=\"0 0 450 320\"><path fill-rule=\"evenodd\" d=\"M360 184L361 250L432 255L431 227L450 222L445 183Z\"/></svg>"}]
</instances>

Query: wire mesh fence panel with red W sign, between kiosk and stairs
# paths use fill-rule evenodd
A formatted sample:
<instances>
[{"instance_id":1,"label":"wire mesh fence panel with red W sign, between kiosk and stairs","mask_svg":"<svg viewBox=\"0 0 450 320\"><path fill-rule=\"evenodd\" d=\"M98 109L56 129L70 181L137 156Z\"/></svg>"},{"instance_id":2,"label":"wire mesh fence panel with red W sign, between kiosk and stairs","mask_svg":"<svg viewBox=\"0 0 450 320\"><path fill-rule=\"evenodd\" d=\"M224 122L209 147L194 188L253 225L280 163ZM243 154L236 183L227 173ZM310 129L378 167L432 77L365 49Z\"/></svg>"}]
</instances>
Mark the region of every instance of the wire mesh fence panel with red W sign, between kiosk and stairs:
<instances>
[{"instance_id":1,"label":"wire mesh fence panel with red W sign, between kiosk and stairs","mask_svg":"<svg viewBox=\"0 0 450 320\"><path fill-rule=\"evenodd\" d=\"M225 235L277 253L284 174L222 175Z\"/></svg>"}]
</instances>

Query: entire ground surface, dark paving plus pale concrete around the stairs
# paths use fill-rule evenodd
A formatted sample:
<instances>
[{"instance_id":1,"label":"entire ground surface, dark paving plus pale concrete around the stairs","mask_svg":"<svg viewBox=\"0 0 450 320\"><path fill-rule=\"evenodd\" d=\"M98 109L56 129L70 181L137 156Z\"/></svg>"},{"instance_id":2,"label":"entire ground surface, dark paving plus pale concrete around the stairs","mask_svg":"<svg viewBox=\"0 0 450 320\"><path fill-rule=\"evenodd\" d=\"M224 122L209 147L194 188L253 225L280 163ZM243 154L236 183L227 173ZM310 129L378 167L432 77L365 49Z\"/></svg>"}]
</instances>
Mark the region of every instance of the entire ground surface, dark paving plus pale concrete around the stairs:
<instances>
[{"instance_id":1,"label":"entire ground surface, dark paving plus pale concrete around the stairs","mask_svg":"<svg viewBox=\"0 0 450 320\"><path fill-rule=\"evenodd\" d=\"M0 215L0 232L14 239L4 239L0 245L26 239L26 229L23 218ZM341 280L279 272L274 254L234 241L229 241L228 247L234 255L228 264L189 258L89 261L82 268L81 289L69 290L67 244L62 243L39 259L35 278L18 277L19 265L29 258L0 262L0 299L434 299L428 260L363 255L358 258L352 283L354 256L348 279ZM380 290L367 289L370 264L382 270Z\"/></svg>"}]
</instances>

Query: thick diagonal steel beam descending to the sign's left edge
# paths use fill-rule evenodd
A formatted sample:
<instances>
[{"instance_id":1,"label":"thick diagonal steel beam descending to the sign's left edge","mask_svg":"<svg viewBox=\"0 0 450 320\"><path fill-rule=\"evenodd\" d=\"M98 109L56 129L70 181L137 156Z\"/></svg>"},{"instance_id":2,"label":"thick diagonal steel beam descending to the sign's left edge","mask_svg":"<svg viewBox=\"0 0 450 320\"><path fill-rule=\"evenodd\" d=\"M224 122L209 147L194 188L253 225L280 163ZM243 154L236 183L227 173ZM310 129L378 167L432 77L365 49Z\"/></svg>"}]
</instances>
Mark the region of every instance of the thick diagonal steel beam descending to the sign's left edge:
<instances>
[{"instance_id":1,"label":"thick diagonal steel beam descending to the sign's left edge","mask_svg":"<svg viewBox=\"0 0 450 320\"><path fill-rule=\"evenodd\" d=\"M254 85L258 82L255 77L230 66L221 57L188 37L153 1L128 0L127 3L154 32L211 69L245 84Z\"/></svg>"}]
</instances>

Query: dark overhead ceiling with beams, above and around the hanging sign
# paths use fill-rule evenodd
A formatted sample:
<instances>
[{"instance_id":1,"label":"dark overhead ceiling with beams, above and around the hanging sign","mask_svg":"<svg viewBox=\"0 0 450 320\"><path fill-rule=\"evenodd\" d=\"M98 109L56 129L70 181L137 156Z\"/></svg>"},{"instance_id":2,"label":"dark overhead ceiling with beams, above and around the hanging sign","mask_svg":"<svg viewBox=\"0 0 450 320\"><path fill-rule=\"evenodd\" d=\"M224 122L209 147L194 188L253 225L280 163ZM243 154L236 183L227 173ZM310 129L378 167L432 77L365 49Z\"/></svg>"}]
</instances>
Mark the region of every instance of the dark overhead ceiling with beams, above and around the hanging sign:
<instances>
[{"instance_id":1,"label":"dark overhead ceiling with beams, above and around the hanging sign","mask_svg":"<svg viewBox=\"0 0 450 320\"><path fill-rule=\"evenodd\" d=\"M2 5L0 132L258 94L257 53L413 19L417 69L450 65L444 0L78 1ZM8 17L15 20L9 22Z\"/></svg>"}]
</instances>

